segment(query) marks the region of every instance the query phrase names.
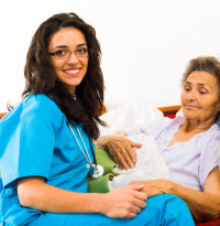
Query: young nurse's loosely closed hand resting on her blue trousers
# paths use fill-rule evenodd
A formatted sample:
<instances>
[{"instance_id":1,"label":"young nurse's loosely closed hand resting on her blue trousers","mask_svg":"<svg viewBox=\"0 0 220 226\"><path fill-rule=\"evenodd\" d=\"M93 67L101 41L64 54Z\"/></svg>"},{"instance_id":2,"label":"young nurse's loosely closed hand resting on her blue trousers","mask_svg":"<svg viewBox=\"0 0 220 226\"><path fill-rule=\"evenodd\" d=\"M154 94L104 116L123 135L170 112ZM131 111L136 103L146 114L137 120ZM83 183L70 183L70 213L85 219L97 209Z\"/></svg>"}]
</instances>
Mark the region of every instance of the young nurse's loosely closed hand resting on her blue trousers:
<instances>
[{"instance_id":1,"label":"young nurse's loosely closed hand resting on her blue trousers","mask_svg":"<svg viewBox=\"0 0 220 226\"><path fill-rule=\"evenodd\" d=\"M142 185L127 185L105 194L102 214L112 218L133 218L146 206Z\"/></svg>"}]
</instances>

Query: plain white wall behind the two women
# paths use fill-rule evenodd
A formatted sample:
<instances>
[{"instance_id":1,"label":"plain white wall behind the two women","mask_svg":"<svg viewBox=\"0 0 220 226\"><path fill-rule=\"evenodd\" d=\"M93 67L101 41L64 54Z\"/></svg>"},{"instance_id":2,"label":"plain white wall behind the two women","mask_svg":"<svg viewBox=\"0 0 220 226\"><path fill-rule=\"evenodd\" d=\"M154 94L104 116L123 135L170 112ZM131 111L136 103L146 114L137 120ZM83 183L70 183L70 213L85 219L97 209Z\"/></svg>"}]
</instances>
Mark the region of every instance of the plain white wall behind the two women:
<instances>
[{"instance_id":1,"label":"plain white wall behind the two women","mask_svg":"<svg viewBox=\"0 0 220 226\"><path fill-rule=\"evenodd\" d=\"M97 31L106 105L145 98L179 104L187 62L219 56L219 0L8 0L0 7L0 112L21 100L23 67L33 33L54 13L74 11Z\"/></svg>"}]
</instances>

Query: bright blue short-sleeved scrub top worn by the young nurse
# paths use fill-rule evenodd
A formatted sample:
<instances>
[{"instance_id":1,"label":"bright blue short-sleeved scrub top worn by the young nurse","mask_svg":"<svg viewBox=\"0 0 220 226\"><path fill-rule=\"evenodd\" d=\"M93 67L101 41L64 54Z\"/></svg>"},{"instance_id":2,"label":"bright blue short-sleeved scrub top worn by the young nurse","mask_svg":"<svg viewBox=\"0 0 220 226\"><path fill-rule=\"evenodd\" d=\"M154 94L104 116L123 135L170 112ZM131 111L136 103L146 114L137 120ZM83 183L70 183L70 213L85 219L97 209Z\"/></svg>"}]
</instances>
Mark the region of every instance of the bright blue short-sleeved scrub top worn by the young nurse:
<instances>
[{"instance_id":1,"label":"bright blue short-sleeved scrub top worn by the young nurse","mask_svg":"<svg viewBox=\"0 0 220 226\"><path fill-rule=\"evenodd\" d=\"M72 121L73 130L82 146ZM78 126L94 161L89 139ZM43 213L20 205L18 179L43 176L45 183L73 192L87 192L82 155L66 118L54 100L46 95L30 95L0 120L0 169L3 191L0 200L0 222L9 225L30 223Z\"/></svg>"}]
</instances>

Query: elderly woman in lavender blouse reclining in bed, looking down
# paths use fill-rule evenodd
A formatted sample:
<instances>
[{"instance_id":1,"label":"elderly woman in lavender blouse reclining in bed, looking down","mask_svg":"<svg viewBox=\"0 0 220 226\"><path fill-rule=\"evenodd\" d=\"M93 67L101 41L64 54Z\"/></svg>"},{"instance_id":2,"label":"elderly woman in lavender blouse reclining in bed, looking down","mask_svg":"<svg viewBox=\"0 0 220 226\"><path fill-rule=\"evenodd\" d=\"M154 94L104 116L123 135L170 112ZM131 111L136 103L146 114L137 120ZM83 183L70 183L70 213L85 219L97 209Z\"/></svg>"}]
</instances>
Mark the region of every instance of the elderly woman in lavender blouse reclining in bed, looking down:
<instances>
[{"instance_id":1,"label":"elderly woman in lavender blouse reclining in bed, looking down","mask_svg":"<svg viewBox=\"0 0 220 226\"><path fill-rule=\"evenodd\" d=\"M146 133L154 137L170 174L168 180L135 181L144 184L147 196L174 194L188 205L196 220L220 216L220 170L218 152L220 127L220 63L215 57L190 61L182 83L183 116L162 118L100 137L97 148L109 150L119 166L133 168L136 161L133 143L122 136Z\"/></svg>"}]
</instances>

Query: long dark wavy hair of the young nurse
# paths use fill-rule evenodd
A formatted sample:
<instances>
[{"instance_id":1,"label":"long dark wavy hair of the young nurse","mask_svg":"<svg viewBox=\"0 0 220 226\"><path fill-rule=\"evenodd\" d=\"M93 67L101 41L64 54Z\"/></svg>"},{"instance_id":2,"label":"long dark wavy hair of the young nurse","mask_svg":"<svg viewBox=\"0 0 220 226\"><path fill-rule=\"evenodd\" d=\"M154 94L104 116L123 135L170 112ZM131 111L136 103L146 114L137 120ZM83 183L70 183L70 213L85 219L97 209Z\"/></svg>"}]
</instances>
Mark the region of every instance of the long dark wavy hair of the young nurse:
<instances>
[{"instance_id":1,"label":"long dark wavy hair of the young nurse","mask_svg":"<svg viewBox=\"0 0 220 226\"><path fill-rule=\"evenodd\" d=\"M87 41L89 63L86 76L76 88L77 100L62 84L53 69L48 55L48 44L52 35L61 28L73 26L80 30ZM59 13L43 22L35 32L24 68L26 84L22 97L31 93L46 94L61 107L68 119L82 123L88 134L97 139L99 129L97 122L103 105L103 76L100 68L101 50L95 29L75 13Z\"/></svg>"}]
</instances>

